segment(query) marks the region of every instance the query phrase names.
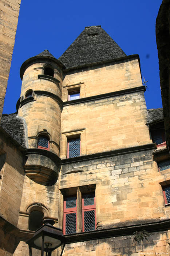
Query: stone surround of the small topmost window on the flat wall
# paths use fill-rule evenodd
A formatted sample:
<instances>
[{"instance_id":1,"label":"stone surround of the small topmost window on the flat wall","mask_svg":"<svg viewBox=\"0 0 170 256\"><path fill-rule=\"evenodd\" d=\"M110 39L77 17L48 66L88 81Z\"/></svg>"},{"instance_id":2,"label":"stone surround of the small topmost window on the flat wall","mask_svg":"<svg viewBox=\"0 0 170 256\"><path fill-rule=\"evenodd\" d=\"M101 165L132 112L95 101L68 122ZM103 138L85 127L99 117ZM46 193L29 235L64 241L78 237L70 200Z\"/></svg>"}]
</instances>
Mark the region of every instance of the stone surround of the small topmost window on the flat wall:
<instances>
[{"instance_id":1,"label":"stone surround of the small topmost window on the flat wall","mask_svg":"<svg viewBox=\"0 0 170 256\"><path fill-rule=\"evenodd\" d=\"M69 101L69 93L72 91L80 91L80 98L85 98L85 84L84 82L76 83L76 84L66 84L63 86L63 101Z\"/></svg>"}]
</instances>

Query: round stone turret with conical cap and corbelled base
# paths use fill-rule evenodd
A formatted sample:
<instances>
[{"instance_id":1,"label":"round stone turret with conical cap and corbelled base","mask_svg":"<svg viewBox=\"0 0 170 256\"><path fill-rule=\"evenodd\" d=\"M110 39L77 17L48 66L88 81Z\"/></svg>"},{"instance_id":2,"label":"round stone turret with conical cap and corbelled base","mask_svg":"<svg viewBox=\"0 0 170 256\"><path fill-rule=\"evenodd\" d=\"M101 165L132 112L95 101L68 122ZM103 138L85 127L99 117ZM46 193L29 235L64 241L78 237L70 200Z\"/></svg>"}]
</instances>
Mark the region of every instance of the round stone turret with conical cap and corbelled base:
<instances>
[{"instance_id":1,"label":"round stone turret with conical cap and corbelled base","mask_svg":"<svg viewBox=\"0 0 170 256\"><path fill-rule=\"evenodd\" d=\"M60 168L62 68L64 65L44 50L26 60L20 69L17 110L27 123L25 173L44 185L56 182Z\"/></svg>"}]
</instances>

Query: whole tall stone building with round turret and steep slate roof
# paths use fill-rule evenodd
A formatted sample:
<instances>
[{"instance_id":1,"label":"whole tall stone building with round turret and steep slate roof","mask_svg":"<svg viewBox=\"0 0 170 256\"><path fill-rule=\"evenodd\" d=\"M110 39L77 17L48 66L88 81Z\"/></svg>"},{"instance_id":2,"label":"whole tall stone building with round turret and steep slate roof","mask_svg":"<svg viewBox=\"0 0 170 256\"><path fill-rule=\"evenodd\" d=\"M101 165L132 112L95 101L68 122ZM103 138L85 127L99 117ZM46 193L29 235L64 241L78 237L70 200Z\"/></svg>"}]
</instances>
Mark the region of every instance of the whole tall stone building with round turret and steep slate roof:
<instances>
[{"instance_id":1,"label":"whole tall stone building with round turret and steep slate roof","mask_svg":"<svg viewBox=\"0 0 170 256\"><path fill-rule=\"evenodd\" d=\"M146 109L139 56L85 27L20 76L17 113L0 127L0 255L29 255L46 218L67 237L64 256L169 255L163 110Z\"/></svg>"}]
</instances>

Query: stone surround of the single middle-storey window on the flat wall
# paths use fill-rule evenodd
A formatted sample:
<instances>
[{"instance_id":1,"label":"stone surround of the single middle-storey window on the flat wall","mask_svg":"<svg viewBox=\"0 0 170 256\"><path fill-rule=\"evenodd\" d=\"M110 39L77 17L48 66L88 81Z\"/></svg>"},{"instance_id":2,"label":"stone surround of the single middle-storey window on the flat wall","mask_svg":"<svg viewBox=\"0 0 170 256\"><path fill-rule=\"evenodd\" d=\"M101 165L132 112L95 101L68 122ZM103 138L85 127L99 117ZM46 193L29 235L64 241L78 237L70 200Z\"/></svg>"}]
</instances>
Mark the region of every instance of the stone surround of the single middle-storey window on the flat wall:
<instances>
[{"instance_id":1,"label":"stone surround of the single middle-storey window on the flat wall","mask_svg":"<svg viewBox=\"0 0 170 256\"><path fill-rule=\"evenodd\" d=\"M61 155L62 159L67 158L67 139L75 138L80 136L81 142L81 155L86 155L86 128L77 129L73 131L66 131L61 133Z\"/></svg>"}]
</instances>

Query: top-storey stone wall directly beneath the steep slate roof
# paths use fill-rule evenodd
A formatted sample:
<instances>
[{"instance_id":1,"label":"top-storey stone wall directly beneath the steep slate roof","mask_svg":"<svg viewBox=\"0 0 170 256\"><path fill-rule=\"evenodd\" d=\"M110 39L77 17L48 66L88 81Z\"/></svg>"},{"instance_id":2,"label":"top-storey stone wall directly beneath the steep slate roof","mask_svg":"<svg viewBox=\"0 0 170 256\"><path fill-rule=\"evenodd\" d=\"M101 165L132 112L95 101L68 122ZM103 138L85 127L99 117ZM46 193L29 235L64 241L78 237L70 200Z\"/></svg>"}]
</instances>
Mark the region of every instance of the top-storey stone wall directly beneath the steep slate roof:
<instances>
[{"instance_id":1,"label":"top-storey stone wall directly beneath the steep slate roof","mask_svg":"<svg viewBox=\"0 0 170 256\"><path fill-rule=\"evenodd\" d=\"M67 72L63 86L80 82L85 85L84 97L142 86L139 60L134 57ZM64 88L63 101L67 100L66 93L67 90Z\"/></svg>"}]
</instances>

